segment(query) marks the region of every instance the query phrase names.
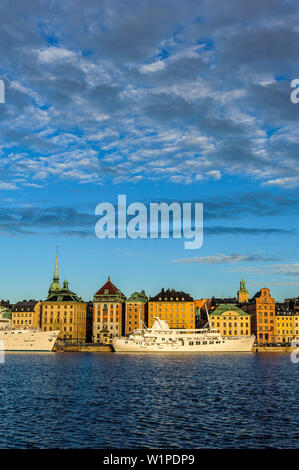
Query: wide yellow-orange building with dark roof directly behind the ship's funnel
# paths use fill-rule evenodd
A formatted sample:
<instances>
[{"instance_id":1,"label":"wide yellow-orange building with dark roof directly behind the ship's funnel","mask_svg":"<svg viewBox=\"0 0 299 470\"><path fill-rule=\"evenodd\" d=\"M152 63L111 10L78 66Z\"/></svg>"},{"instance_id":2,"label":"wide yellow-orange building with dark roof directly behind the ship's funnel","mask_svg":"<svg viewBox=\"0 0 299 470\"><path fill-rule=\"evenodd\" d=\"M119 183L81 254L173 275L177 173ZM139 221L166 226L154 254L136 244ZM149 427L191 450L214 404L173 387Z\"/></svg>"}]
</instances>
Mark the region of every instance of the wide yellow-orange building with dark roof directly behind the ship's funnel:
<instances>
[{"instance_id":1,"label":"wide yellow-orange building with dark roof directly behind the ship's funnel","mask_svg":"<svg viewBox=\"0 0 299 470\"><path fill-rule=\"evenodd\" d=\"M155 317L166 320L170 328L195 328L195 302L189 294L164 289L148 303L148 326Z\"/></svg>"}]
</instances>

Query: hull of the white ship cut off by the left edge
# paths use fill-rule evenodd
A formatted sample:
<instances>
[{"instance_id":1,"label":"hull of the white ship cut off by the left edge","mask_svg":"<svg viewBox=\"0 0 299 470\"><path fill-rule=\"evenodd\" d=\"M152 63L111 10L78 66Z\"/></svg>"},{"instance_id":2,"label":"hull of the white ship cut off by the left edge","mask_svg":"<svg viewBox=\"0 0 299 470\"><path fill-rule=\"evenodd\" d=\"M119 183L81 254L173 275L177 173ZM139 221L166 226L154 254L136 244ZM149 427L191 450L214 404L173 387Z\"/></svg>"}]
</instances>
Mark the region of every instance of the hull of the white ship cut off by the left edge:
<instances>
[{"instance_id":1,"label":"hull of the white ship cut off by the left edge","mask_svg":"<svg viewBox=\"0 0 299 470\"><path fill-rule=\"evenodd\" d=\"M50 352L60 330L0 330L0 348L4 352Z\"/></svg>"}]
</instances>

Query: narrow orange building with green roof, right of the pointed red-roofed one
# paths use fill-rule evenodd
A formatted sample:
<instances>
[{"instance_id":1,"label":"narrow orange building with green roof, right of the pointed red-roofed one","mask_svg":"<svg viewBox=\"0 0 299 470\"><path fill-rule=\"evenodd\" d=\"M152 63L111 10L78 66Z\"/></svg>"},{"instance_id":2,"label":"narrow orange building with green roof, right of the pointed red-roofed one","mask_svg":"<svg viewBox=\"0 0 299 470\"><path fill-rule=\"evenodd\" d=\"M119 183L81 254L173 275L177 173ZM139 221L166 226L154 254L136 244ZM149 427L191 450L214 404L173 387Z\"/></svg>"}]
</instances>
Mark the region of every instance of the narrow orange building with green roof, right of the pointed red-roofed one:
<instances>
[{"instance_id":1,"label":"narrow orange building with green roof, right of the pointed red-roofed one","mask_svg":"<svg viewBox=\"0 0 299 470\"><path fill-rule=\"evenodd\" d=\"M134 292L126 301L126 326L125 334L129 335L132 331L147 326L147 304L148 297L145 291Z\"/></svg>"}]
</instances>

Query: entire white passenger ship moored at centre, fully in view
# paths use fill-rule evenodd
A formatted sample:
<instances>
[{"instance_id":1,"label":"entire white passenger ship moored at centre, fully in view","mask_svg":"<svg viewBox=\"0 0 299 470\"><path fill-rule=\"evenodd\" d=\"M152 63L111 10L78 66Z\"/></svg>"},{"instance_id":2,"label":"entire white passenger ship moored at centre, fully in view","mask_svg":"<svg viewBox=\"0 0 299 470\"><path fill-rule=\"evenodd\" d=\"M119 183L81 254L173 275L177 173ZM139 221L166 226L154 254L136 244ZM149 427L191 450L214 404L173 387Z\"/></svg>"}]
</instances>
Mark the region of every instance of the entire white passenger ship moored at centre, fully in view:
<instances>
[{"instance_id":1,"label":"entire white passenger ship moored at centre, fully in view","mask_svg":"<svg viewBox=\"0 0 299 470\"><path fill-rule=\"evenodd\" d=\"M116 338L115 352L250 352L255 336L223 338L217 329L170 329L165 320L155 319L151 328L135 330Z\"/></svg>"}]
</instances>

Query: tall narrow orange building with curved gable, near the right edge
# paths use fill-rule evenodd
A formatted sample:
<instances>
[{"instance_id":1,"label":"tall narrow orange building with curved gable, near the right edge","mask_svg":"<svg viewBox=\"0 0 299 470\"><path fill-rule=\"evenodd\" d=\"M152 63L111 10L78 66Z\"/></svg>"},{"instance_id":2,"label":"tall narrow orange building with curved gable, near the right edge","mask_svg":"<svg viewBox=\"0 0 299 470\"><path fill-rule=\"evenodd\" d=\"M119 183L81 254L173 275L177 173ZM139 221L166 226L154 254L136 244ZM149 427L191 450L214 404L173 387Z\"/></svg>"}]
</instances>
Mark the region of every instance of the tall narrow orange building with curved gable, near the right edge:
<instances>
[{"instance_id":1,"label":"tall narrow orange building with curved gable, near the right edge","mask_svg":"<svg viewBox=\"0 0 299 470\"><path fill-rule=\"evenodd\" d=\"M249 302L242 304L241 308L251 315L251 331L257 343L275 343L275 299L271 297L270 290L263 287Z\"/></svg>"}]
</instances>

